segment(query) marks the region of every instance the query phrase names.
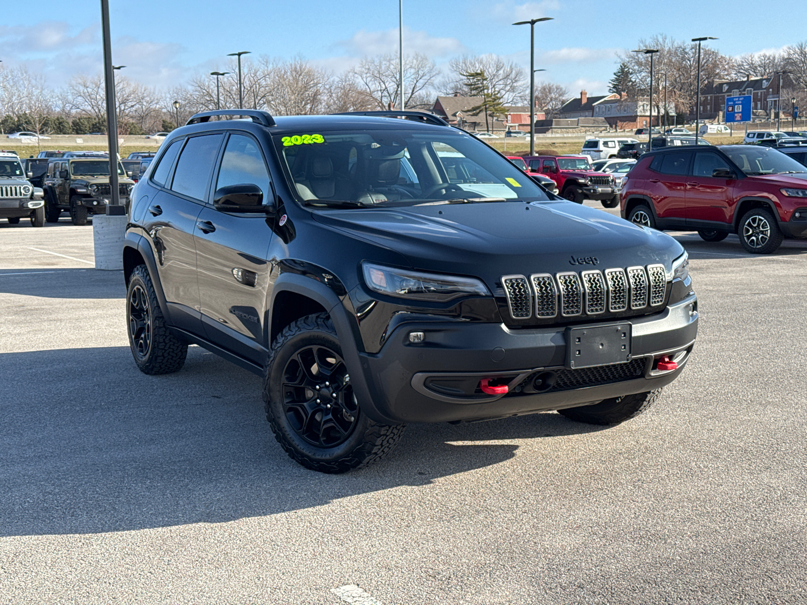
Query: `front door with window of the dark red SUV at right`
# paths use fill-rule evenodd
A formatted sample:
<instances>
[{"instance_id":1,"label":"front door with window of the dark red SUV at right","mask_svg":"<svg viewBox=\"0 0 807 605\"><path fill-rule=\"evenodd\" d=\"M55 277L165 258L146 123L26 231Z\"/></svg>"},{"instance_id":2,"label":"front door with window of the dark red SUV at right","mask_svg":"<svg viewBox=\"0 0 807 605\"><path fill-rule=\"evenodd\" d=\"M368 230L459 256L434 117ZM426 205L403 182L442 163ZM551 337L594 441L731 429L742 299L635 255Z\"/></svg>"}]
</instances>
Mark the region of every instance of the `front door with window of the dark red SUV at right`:
<instances>
[{"instance_id":1,"label":"front door with window of the dark red SUV at right","mask_svg":"<svg viewBox=\"0 0 807 605\"><path fill-rule=\"evenodd\" d=\"M730 170L729 165L713 152L696 152L692 176L687 179L687 221L731 223L733 178L713 177L713 170ZM692 223L696 226L696 223Z\"/></svg>"}]
</instances>

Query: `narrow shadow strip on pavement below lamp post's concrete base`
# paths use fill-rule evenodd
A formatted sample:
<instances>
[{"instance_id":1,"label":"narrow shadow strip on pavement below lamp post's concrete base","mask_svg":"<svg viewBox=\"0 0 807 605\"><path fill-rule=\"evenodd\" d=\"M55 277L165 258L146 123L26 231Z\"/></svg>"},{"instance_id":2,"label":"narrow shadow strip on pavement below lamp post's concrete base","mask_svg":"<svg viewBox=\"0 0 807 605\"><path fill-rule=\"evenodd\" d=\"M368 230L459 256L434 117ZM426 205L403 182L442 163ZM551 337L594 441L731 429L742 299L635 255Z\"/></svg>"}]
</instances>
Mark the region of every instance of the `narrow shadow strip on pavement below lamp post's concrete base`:
<instances>
[{"instance_id":1,"label":"narrow shadow strip on pavement below lamp post's concrete base","mask_svg":"<svg viewBox=\"0 0 807 605\"><path fill-rule=\"evenodd\" d=\"M0 269L0 293L42 298L126 298L123 271Z\"/></svg>"}]
</instances>

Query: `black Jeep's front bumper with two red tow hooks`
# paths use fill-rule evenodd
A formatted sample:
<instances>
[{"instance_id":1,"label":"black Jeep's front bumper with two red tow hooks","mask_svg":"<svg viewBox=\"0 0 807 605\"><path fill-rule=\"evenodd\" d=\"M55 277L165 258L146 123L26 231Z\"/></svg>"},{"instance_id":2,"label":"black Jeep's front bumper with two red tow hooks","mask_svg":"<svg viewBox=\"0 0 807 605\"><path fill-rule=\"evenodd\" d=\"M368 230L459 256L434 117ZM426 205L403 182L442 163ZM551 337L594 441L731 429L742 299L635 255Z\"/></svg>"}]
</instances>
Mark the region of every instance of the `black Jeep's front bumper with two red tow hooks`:
<instances>
[{"instance_id":1,"label":"black Jeep's front bumper with two red tow hooks","mask_svg":"<svg viewBox=\"0 0 807 605\"><path fill-rule=\"evenodd\" d=\"M367 411L387 423L473 421L560 410L660 389L675 380L687 363L697 322L697 299L692 295L656 315L573 329L405 323L377 355L360 356L371 400ZM608 337L600 336L612 328L615 339L623 335L629 344L608 344ZM619 362L596 365L602 353L592 351L592 364L575 364L573 358L580 350L574 342L569 349L567 341L579 342L581 330L596 335L593 348L626 346L627 354ZM410 342L412 332L423 332L423 340ZM362 407L367 408L367 403Z\"/></svg>"}]
</instances>

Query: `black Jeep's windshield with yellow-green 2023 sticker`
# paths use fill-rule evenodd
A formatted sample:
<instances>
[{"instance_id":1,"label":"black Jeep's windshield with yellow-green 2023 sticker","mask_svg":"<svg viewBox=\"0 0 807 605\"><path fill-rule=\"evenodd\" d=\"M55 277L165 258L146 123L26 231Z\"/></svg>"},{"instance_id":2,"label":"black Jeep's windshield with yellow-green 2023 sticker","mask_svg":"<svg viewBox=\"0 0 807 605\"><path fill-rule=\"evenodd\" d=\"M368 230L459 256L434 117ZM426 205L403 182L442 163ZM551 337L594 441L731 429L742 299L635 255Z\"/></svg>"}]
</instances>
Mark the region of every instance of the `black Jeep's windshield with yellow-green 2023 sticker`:
<instances>
[{"instance_id":1,"label":"black Jeep's windshield with yellow-green 2023 sticker","mask_svg":"<svg viewBox=\"0 0 807 605\"><path fill-rule=\"evenodd\" d=\"M314 206L548 199L486 144L447 128L278 135L275 144L292 189Z\"/></svg>"}]
</instances>

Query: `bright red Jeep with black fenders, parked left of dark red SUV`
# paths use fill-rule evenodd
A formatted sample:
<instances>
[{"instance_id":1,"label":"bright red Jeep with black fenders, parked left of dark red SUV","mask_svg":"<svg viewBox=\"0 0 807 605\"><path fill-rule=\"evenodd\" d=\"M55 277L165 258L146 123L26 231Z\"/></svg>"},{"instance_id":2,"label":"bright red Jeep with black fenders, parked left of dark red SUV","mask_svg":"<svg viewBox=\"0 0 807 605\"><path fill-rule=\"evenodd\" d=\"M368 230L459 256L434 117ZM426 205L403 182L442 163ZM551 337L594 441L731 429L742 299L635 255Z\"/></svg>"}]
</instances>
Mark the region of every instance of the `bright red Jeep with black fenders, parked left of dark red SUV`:
<instances>
[{"instance_id":1,"label":"bright red Jeep with black fenders, parked left of dark red SUV","mask_svg":"<svg viewBox=\"0 0 807 605\"><path fill-rule=\"evenodd\" d=\"M619 193L612 174L591 169L585 158L576 156L525 156L528 174L543 174L558 185L562 198L583 203L599 199L606 208L619 206Z\"/></svg>"}]
</instances>

